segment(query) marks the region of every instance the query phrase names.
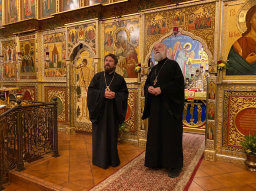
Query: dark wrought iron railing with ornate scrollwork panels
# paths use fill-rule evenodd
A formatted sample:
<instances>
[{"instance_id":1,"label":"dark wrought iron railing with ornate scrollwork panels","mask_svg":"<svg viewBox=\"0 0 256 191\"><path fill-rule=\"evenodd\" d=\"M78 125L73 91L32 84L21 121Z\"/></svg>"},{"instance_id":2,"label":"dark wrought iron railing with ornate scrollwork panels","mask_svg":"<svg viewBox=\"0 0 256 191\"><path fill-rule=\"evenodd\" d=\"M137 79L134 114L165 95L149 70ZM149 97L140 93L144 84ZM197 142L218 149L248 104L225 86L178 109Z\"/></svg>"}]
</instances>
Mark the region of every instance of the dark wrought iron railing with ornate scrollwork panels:
<instances>
[{"instance_id":1,"label":"dark wrought iron railing with ornate scrollwork panels","mask_svg":"<svg viewBox=\"0 0 256 191\"><path fill-rule=\"evenodd\" d=\"M53 100L26 104L16 100L17 106L0 115L0 191L11 169L23 171L25 162L50 152L59 156L57 97Z\"/></svg>"}]
</instances>

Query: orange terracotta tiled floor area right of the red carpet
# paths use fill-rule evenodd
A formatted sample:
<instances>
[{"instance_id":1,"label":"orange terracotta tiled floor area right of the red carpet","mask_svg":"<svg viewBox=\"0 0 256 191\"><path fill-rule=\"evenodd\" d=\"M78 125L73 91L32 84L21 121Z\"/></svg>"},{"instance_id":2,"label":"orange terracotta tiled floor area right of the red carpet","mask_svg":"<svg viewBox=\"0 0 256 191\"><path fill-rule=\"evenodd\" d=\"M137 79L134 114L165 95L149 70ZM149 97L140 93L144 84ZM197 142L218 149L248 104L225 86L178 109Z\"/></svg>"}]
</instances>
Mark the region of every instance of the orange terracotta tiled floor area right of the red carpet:
<instances>
[{"instance_id":1,"label":"orange terracotta tiled floor area right of the red carpet","mask_svg":"<svg viewBox=\"0 0 256 191\"><path fill-rule=\"evenodd\" d=\"M256 191L256 172L246 165L203 160L188 191Z\"/></svg>"}]
</instances>

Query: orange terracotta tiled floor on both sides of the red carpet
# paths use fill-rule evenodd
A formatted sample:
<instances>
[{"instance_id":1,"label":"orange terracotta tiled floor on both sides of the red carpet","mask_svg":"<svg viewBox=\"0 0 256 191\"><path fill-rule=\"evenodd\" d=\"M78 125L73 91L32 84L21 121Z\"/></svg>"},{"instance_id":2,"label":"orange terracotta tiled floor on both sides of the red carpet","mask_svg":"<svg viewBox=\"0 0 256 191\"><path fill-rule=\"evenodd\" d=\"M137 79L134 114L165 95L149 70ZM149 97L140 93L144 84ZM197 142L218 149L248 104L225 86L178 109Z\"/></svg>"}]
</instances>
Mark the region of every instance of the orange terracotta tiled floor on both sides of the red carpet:
<instances>
[{"instance_id":1,"label":"orange terracotta tiled floor on both sides of the red carpet","mask_svg":"<svg viewBox=\"0 0 256 191\"><path fill-rule=\"evenodd\" d=\"M87 191L139 155L144 149L121 143L118 145L121 165L106 170L92 165L92 136L76 133L69 136L59 132L61 157L47 156L25 167L25 173L70 188ZM8 185L5 191L27 191L17 185ZM189 191L256 191L256 172L246 170L245 165L203 160Z\"/></svg>"}]
</instances>

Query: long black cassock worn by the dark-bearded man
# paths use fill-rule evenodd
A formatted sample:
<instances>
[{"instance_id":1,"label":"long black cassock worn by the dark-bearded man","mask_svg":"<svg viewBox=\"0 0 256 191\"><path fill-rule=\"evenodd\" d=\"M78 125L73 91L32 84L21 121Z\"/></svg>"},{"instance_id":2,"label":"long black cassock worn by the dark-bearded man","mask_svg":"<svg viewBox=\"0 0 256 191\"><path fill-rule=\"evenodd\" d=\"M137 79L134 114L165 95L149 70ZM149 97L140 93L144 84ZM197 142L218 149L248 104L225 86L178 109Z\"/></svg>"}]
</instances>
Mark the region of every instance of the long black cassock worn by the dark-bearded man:
<instances>
[{"instance_id":1,"label":"long black cassock worn by the dark-bearded man","mask_svg":"<svg viewBox=\"0 0 256 191\"><path fill-rule=\"evenodd\" d=\"M110 84L114 72L106 75L106 83ZM108 168L120 165L117 152L119 125L124 122L127 110L128 89L124 78L115 74L110 90L115 98L104 97L106 83L104 71L95 74L87 93L87 107L93 123L93 165Z\"/></svg>"}]
</instances>

